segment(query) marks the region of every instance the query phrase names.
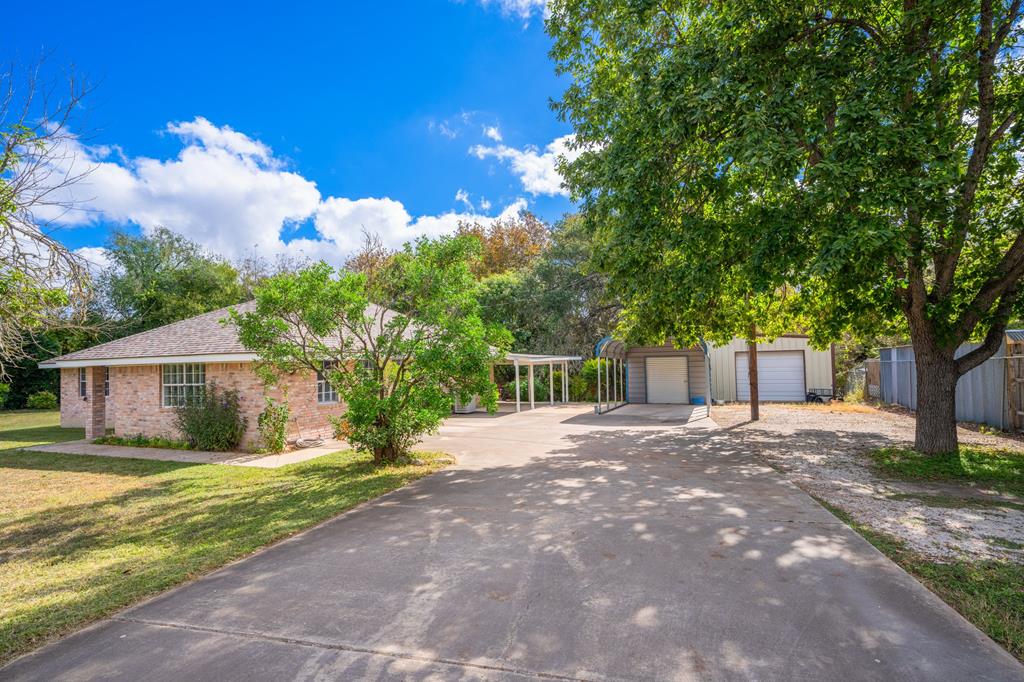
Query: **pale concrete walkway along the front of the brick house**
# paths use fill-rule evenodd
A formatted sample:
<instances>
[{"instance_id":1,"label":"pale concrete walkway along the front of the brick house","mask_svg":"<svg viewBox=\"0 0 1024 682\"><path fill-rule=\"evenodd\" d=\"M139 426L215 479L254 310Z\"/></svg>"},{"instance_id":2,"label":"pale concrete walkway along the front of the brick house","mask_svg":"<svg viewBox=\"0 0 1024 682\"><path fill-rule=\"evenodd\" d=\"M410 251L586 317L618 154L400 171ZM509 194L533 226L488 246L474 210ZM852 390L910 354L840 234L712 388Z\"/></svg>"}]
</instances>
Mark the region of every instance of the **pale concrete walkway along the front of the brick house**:
<instances>
[{"instance_id":1,"label":"pale concrete walkway along the front of the brick house","mask_svg":"<svg viewBox=\"0 0 1024 682\"><path fill-rule=\"evenodd\" d=\"M185 462L188 464L226 464L237 467L257 467L276 469L286 464L305 462L324 455L348 450L343 440L325 440L323 445L294 450L281 455L258 455L252 453L210 453L201 450L172 450L168 447L133 447L131 445L101 445L91 440L66 440L51 445L23 447L39 453L61 453L63 455L91 455L93 457L126 457L134 460L162 460L165 462Z\"/></svg>"}]
</instances>

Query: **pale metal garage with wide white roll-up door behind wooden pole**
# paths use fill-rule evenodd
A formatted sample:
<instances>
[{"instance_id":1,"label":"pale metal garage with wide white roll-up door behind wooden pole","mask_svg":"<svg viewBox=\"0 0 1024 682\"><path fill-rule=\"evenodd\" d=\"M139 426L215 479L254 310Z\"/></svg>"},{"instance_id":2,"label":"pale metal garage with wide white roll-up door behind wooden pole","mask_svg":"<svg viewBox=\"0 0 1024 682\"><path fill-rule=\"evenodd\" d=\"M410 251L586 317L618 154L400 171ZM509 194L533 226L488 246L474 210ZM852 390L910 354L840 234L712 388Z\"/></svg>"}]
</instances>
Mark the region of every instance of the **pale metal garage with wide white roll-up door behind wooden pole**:
<instances>
[{"instance_id":1,"label":"pale metal garage with wide white roll-up door behind wooden pole","mask_svg":"<svg viewBox=\"0 0 1024 682\"><path fill-rule=\"evenodd\" d=\"M750 400L750 353L734 339L709 350L712 398ZM764 402L803 402L812 389L835 390L833 350L811 348L806 336L783 336L758 344L758 393Z\"/></svg>"}]
</instances>

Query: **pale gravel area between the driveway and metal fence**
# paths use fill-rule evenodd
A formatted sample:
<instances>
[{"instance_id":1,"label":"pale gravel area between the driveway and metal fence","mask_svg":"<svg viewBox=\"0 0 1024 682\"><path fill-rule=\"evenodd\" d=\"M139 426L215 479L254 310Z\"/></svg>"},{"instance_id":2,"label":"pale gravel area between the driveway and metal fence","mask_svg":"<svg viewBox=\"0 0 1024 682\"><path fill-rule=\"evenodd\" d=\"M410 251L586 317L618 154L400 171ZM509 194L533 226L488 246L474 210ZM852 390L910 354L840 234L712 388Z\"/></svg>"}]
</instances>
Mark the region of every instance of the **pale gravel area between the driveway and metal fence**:
<instances>
[{"instance_id":1,"label":"pale gravel area between the driveway and metal fence","mask_svg":"<svg viewBox=\"0 0 1024 682\"><path fill-rule=\"evenodd\" d=\"M763 406L761 420L750 422L750 407L735 404L714 408L712 418L803 489L921 554L939 561L1024 561L1024 551L999 544L1024 545L1024 509L1013 506L1024 500L983 487L890 480L874 473L866 453L911 444L910 416L866 406ZM1024 450L1019 440L964 428L959 438Z\"/></svg>"}]
</instances>

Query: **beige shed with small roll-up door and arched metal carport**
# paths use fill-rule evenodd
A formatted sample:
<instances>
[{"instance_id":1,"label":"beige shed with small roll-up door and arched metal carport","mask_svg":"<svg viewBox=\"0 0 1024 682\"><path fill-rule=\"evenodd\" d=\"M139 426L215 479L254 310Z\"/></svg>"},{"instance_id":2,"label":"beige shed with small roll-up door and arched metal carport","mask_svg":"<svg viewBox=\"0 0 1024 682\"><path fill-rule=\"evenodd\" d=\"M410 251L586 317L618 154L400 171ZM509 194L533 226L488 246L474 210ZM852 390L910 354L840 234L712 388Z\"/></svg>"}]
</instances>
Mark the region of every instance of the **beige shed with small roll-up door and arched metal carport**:
<instances>
[{"instance_id":1,"label":"beige shed with small roll-up door and arched metal carport","mask_svg":"<svg viewBox=\"0 0 1024 682\"><path fill-rule=\"evenodd\" d=\"M689 419L709 415L711 368L703 344L630 346L605 337L594 347L594 357L598 414L639 403L693 406Z\"/></svg>"}]
</instances>

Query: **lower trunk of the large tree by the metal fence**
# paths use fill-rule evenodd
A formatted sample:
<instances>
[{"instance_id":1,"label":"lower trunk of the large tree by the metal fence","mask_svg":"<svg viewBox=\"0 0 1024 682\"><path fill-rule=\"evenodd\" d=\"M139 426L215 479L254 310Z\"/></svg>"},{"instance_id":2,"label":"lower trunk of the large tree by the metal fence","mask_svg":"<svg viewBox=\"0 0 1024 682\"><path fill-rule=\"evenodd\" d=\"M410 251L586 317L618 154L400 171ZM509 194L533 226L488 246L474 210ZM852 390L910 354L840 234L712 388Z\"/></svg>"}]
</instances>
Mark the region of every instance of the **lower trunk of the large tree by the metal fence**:
<instances>
[{"instance_id":1,"label":"lower trunk of the large tree by the metal fence","mask_svg":"<svg viewBox=\"0 0 1024 682\"><path fill-rule=\"evenodd\" d=\"M953 351L914 344L918 425L913 447L925 455L956 452L956 381ZM919 347L925 346L925 347Z\"/></svg>"}]
</instances>

